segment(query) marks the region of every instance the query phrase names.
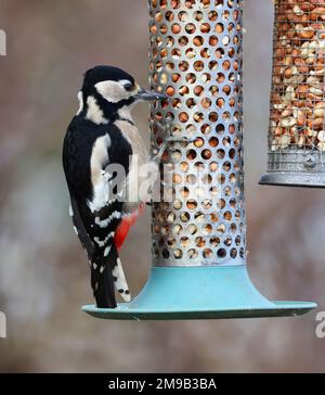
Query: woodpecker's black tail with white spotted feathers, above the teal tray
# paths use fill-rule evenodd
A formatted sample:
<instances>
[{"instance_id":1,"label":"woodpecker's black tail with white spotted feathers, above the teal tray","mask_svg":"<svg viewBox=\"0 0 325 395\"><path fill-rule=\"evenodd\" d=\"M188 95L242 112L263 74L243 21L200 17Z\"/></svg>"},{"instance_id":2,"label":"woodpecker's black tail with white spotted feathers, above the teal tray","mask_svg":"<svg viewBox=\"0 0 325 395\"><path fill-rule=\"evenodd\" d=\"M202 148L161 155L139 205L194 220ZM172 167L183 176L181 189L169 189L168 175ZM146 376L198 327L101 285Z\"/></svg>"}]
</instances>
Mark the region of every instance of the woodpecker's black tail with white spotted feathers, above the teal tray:
<instances>
[{"instance_id":1,"label":"woodpecker's black tail with white spotted feathers, above the teal tray","mask_svg":"<svg viewBox=\"0 0 325 395\"><path fill-rule=\"evenodd\" d=\"M115 244L110 245L106 257L93 260L91 263L91 285L96 306L100 308L115 308L117 306L114 285L122 298L130 302L130 291Z\"/></svg>"}]
</instances>

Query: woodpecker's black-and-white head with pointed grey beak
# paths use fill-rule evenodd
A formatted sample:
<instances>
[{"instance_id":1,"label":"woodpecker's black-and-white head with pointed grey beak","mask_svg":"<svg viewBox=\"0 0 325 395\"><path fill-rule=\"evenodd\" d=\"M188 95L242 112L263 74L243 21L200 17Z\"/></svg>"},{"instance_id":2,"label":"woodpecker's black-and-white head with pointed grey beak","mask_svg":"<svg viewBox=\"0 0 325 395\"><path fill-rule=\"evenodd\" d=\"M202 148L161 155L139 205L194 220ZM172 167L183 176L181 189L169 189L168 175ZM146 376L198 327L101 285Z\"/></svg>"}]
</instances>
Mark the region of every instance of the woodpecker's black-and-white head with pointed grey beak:
<instances>
[{"instance_id":1,"label":"woodpecker's black-and-white head with pointed grey beak","mask_svg":"<svg viewBox=\"0 0 325 395\"><path fill-rule=\"evenodd\" d=\"M95 66L86 73L78 98L78 114L84 112L86 117L100 124L119 113L128 117L139 101L161 100L165 95L141 88L120 68Z\"/></svg>"}]
</instances>

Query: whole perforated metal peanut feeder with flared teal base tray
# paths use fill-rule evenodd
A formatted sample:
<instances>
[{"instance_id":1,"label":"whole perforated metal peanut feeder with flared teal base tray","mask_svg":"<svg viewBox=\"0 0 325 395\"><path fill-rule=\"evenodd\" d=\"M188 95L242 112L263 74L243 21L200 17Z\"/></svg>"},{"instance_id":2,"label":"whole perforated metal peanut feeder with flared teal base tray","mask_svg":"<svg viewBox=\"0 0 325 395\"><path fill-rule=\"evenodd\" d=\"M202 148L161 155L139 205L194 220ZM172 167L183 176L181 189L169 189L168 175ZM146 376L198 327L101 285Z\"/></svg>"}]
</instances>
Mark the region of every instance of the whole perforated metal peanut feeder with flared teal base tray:
<instances>
[{"instance_id":1,"label":"whole perforated metal peanut feeder with flared teal base tray","mask_svg":"<svg viewBox=\"0 0 325 395\"><path fill-rule=\"evenodd\" d=\"M153 268L142 292L109 319L292 316L314 303L271 302L246 268L243 173L242 1L151 0L153 152L170 173L152 211ZM132 263L133 265L136 262Z\"/></svg>"}]
</instances>

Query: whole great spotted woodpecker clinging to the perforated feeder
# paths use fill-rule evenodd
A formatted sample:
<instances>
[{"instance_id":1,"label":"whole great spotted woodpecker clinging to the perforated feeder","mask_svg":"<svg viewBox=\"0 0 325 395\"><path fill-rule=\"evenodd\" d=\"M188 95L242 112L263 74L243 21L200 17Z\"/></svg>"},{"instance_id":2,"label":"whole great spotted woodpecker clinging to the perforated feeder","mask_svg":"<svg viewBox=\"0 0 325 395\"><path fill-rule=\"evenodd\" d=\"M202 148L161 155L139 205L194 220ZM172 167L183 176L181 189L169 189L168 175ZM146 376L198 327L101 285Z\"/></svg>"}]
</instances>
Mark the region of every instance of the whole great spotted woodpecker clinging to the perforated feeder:
<instances>
[{"instance_id":1,"label":"whole great spotted woodpecker clinging to the perforated feeder","mask_svg":"<svg viewBox=\"0 0 325 395\"><path fill-rule=\"evenodd\" d=\"M88 254L98 307L116 307L115 289L126 302L131 300L118 249L143 209L143 203L127 197L127 190L140 182L135 163L138 168L151 163L131 110L141 100L162 98L112 66L89 69L78 93L80 106L64 139L63 166L69 213ZM114 166L125 171L123 180L116 181Z\"/></svg>"}]
</instances>

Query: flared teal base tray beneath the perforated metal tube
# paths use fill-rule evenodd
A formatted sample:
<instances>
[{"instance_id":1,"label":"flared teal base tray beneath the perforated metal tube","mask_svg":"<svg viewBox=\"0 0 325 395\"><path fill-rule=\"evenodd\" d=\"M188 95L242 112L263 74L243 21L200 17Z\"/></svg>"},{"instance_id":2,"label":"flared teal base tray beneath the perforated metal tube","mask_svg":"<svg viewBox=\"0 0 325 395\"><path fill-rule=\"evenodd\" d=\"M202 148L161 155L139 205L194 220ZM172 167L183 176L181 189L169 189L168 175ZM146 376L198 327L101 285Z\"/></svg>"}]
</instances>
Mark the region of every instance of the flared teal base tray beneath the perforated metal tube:
<instances>
[{"instance_id":1,"label":"flared teal base tray beneath the perforated metal tube","mask_svg":"<svg viewBox=\"0 0 325 395\"><path fill-rule=\"evenodd\" d=\"M154 267L132 302L82 310L96 318L140 321L300 316L315 307L312 302L268 301L240 265Z\"/></svg>"}]
</instances>

